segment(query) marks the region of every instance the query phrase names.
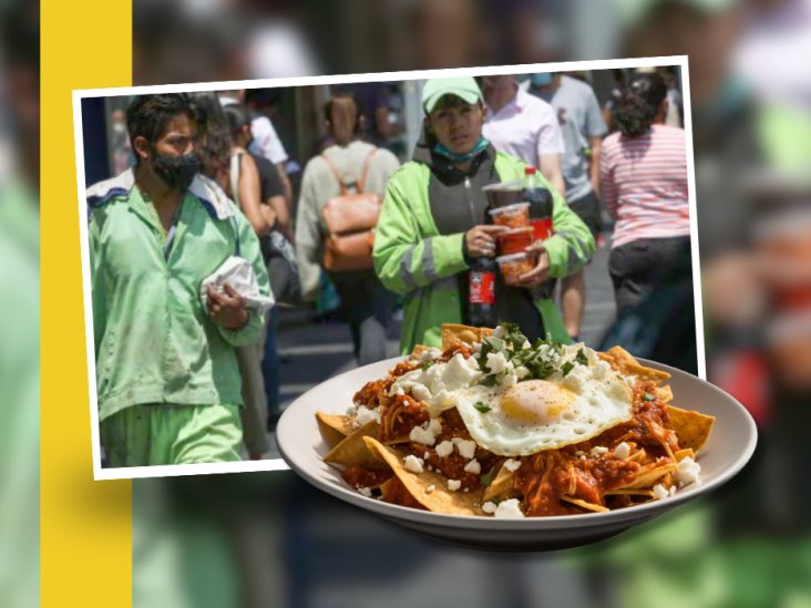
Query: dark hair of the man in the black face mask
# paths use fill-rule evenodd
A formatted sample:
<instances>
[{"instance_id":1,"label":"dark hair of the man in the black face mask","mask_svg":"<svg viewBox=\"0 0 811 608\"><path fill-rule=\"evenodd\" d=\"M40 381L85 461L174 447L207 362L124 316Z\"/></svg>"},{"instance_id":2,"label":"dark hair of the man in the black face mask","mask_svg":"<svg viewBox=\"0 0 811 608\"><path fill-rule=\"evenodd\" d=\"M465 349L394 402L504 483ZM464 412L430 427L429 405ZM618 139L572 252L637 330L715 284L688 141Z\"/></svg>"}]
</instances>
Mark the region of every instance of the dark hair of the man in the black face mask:
<instances>
[{"instance_id":1,"label":"dark hair of the man in the black face mask","mask_svg":"<svg viewBox=\"0 0 811 608\"><path fill-rule=\"evenodd\" d=\"M135 137L142 136L154 145L166 131L168 122L178 114L185 114L198 124L206 118L199 116L198 106L186 93L165 93L161 95L138 95L126 109L126 130L130 143L135 148Z\"/></svg>"}]
</instances>

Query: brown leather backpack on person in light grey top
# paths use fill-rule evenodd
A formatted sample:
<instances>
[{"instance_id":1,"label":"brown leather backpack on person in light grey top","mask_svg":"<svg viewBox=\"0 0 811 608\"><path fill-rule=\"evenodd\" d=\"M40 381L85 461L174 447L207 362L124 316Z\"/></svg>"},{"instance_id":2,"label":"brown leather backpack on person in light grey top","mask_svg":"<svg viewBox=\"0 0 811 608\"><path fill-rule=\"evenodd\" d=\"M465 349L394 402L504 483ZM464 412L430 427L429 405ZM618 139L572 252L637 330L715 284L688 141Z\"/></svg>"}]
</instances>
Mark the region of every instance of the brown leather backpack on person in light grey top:
<instances>
[{"instance_id":1,"label":"brown leather backpack on person in light grey top","mask_svg":"<svg viewBox=\"0 0 811 608\"><path fill-rule=\"evenodd\" d=\"M365 193L363 186L369 173L369 163L377 148L363 162L360 178L355 183L357 194L349 194L340 173L321 155L341 188L340 196L330 198L324 207L327 238L324 248L324 268L330 272L368 270L372 267L374 226L378 224L382 199L379 195Z\"/></svg>"}]
</instances>

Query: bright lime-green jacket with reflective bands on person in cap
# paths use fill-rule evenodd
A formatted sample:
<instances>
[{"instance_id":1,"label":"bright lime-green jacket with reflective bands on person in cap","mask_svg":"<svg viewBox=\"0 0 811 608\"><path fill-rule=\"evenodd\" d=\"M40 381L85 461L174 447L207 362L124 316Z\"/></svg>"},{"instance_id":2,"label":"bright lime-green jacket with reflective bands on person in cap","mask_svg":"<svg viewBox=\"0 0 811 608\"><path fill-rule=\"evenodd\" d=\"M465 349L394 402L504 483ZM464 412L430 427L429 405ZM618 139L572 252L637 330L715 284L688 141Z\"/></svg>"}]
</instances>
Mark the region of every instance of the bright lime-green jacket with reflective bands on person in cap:
<instances>
[{"instance_id":1,"label":"bright lime-green jacket with reflective bands on person in cap","mask_svg":"<svg viewBox=\"0 0 811 608\"><path fill-rule=\"evenodd\" d=\"M526 164L497 153L495 171L502 182L523 179ZM431 168L411 161L392 175L374 234L374 270L390 290L407 296L400 350L410 352L415 344L438 347L442 323L460 323L460 293L455 275L468 269L462 243L464 233L440 235L431 215L429 182ZM552 277L561 278L579 270L594 254L594 238L588 228L554 192L555 235L545 241ZM463 186L460 186L463 187ZM548 298L537 298L547 332L569 342L563 320Z\"/></svg>"}]
</instances>

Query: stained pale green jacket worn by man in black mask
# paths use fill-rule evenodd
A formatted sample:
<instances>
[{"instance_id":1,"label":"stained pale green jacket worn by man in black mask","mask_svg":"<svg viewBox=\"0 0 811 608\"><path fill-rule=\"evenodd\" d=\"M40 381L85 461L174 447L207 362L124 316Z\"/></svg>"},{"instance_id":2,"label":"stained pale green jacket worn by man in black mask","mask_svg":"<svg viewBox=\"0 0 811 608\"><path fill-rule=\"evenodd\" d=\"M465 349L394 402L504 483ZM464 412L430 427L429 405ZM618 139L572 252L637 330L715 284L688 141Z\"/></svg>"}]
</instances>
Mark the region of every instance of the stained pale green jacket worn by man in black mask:
<instances>
[{"instance_id":1,"label":"stained pale green jacket worn by man in black mask","mask_svg":"<svg viewBox=\"0 0 811 608\"><path fill-rule=\"evenodd\" d=\"M234 347L258 341L264 319L251 311L242 330L226 330L199 296L230 255L251 261L268 293L259 241L242 213L197 176L165 260L163 226L132 171L89 188L88 205L99 419L144 403L242 403Z\"/></svg>"}]
</instances>

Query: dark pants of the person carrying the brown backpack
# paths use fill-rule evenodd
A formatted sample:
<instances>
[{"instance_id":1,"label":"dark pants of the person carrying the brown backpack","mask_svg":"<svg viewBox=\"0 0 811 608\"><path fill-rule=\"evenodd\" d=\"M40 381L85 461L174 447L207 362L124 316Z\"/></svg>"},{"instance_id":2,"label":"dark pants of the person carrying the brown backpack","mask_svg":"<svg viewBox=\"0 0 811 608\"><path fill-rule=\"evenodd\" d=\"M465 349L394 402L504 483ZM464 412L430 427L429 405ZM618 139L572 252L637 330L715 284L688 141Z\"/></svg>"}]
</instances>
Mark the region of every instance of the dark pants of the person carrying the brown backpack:
<instances>
[{"instance_id":1,"label":"dark pants of the person carrying the brown backpack","mask_svg":"<svg viewBox=\"0 0 811 608\"><path fill-rule=\"evenodd\" d=\"M386 330L394 311L394 295L371 270L335 272L329 278L341 298L340 316L352 332L358 364L386 359Z\"/></svg>"}]
</instances>

